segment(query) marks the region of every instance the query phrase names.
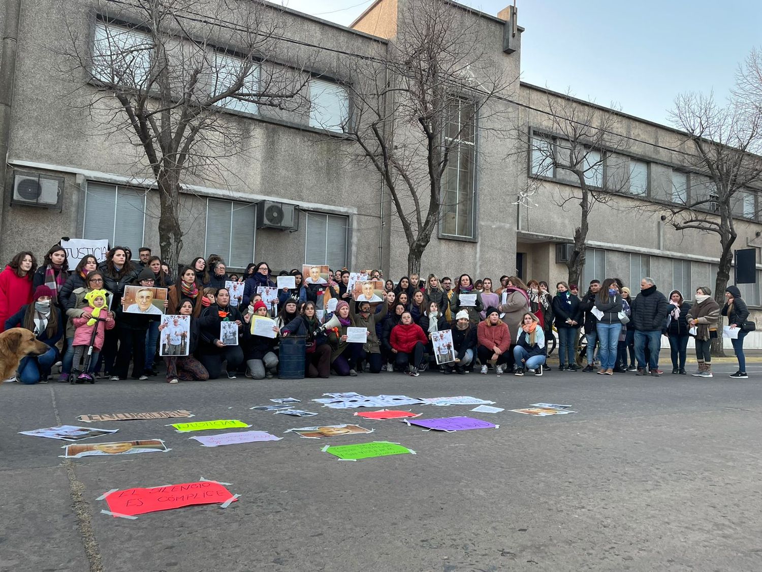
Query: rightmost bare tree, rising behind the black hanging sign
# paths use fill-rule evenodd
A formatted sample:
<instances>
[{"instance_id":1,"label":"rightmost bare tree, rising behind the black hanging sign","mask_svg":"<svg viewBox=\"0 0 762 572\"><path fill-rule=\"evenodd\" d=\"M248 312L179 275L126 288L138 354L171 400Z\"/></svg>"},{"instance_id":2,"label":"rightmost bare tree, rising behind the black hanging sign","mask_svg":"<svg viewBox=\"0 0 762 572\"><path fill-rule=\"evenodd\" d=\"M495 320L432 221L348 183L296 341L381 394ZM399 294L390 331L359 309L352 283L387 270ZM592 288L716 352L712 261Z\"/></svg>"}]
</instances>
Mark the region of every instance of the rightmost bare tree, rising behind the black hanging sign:
<instances>
[{"instance_id":1,"label":"rightmost bare tree, rising behind the black hanging sign","mask_svg":"<svg viewBox=\"0 0 762 572\"><path fill-rule=\"evenodd\" d=\"M739 210L751 210L756 217L754 187L762 184L762 157L755 154L762 147L762 76L752 63L760 63L759 53L752 53L750 66L739 69L739 91L728 104L717 104L711 94L687 93L675 99L672 111L674 124L686 133L684 143L690 149L684 156L686 168L705 175L691 175L695 180L690 193L680 196L684 204L671 207L665 218L676 230L692 229L718 237L715 300L721 306L738 237L733 217ZM721 339L713 342L712 352L722 353Z\"/></svg>"}]
</instances>

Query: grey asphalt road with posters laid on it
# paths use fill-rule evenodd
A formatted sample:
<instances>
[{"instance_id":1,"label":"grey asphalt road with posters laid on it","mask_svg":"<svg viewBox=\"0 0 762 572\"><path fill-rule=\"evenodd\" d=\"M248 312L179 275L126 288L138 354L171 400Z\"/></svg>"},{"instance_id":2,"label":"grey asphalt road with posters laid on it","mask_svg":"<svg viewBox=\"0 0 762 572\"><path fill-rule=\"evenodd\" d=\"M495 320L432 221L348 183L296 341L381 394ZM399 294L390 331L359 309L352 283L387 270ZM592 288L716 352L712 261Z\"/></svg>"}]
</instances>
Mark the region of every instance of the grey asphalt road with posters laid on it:
<instances>
[{"instance_id":1,"label":"grey asphalt road with posters laid on it","mask_svg":"<svg viewBox=\"0 0 762 572\"><path fill-rule=\"evenodd\" d=\"M762 364L748 369L746 381L552 371L4 384L0 570L762 570ZM470 395L506 410L409 407L424 418L468 415L499 429L424 432L363 420L373 434L284 435L357 422L354 410L309 403L325 391ZM319 416L248 409L275 397L303 400ZM569 403L578 413L508 411L536 402ZM78 424L82 413L181 408L193 420L242 419L283 439L203 448L165 426L182 419L94 423L120 429L118 439L96 442L158 438L172 450L64 460L64 442L17 434ZM418 454L347 462L321 451L328 442L373 440ZM107 506L95 500L111 489L200 477L232 483L239 502L126 520L101 514Z\"/></svg>"}]
</instances>

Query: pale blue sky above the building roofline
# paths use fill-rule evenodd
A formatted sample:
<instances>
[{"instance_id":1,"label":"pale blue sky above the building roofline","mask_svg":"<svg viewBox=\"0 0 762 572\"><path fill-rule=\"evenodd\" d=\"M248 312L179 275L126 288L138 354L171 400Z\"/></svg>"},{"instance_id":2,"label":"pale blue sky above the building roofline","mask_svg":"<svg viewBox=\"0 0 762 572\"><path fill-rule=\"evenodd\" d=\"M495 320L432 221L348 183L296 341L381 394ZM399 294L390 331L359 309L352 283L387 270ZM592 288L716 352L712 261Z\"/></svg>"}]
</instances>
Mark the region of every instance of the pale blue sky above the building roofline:
<instances>
[{"instance_id":1,"label":"pale blue sky above the building roofline","mask_svg":"<svg viewBox=\"0 0 762 572\"><path fill-rule=\"evenodd\" d=\"M275 0L348 26L371 0ZM508 0L465 0L497 14ZM517 0L521 79L668 124L680 92L728 94L762 47L762 0Z\"/></svg>"}]
</instances>

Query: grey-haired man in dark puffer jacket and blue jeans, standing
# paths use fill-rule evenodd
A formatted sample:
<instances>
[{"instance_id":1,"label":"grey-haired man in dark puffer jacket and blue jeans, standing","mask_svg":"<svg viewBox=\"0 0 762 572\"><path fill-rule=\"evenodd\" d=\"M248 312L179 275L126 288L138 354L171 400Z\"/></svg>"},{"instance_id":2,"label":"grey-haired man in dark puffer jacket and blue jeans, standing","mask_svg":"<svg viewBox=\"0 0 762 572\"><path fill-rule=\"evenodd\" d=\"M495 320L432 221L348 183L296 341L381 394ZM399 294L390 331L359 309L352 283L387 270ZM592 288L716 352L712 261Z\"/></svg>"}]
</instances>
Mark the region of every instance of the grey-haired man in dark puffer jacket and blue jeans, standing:
<instances>
[{"instance_id":1,"label":"grey-haired man in dark puffer jacket and blue jeans, standing","mask_svg":"<svg viewBox=\"0 0 762 572\"><path fill-rule=\"evenodd\" d=\"M653 278L643 278L640 281L640 294L632 302L632 325L635 326L635 357L638 360L636 375L645 375L645 347L651 355L648 359L648 370L653 377L658 378L659 349L661 348L661 331L666 326L670 307L664 294L656 289Z\"/></svg>"}]
</instances>

